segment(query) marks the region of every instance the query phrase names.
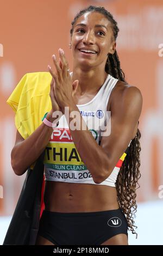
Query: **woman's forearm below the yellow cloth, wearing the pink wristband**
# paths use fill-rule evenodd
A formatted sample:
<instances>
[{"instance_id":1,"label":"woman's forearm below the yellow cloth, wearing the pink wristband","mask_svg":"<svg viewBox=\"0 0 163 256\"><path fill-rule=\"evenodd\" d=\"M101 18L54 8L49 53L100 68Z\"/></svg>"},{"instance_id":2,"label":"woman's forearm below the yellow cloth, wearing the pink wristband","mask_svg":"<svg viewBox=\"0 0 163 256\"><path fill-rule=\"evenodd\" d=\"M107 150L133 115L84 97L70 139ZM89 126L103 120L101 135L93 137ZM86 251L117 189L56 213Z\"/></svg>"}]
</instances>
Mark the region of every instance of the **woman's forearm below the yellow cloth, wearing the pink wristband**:
<instances>
[{"instance_id":1,"label":"woman's forearm below the yellow cloth, wearing the pink wristband","mask_svg":"<svg viewBox=\"0 0 163 256\"><path fill-rule=\"evenodd\" d=\"M54 121L47 115L49 121ZM56 123L56 121L54 121ZM11 151L11 165L17 175L22 175L46 148L53 128L42 123L27 139L17 143Z\"/></svg>"}]
</instances>

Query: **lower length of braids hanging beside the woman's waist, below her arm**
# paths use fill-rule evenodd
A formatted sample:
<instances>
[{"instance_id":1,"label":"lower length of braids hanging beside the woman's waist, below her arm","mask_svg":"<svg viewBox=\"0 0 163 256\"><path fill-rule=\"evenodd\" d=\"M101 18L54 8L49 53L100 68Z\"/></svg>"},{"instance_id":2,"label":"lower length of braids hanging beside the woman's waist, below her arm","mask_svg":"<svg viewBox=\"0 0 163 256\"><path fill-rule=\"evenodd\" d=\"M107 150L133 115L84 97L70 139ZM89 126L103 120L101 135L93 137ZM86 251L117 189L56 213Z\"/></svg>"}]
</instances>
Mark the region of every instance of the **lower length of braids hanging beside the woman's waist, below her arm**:
<instances>
[{"instance_id":1,"label":"lower length of braids hanging beside the woman's waist, below her arm","mask_svg":"<svg viewBox=\"0 0 163 256\"><path fill-rule=\"evenodd\" d=\"M120 172L117 176L116 188L118 203L120 208L126 214L128 226L133 234L135 232L133 215L135 216L137 204L136 204L136 189L139 188L138 180L141 177L140 168L140 140L141 133L137 129L135 138L131 141L128 154L126 155L124 162L120 168Z\"/></svg>"}]
</instances>

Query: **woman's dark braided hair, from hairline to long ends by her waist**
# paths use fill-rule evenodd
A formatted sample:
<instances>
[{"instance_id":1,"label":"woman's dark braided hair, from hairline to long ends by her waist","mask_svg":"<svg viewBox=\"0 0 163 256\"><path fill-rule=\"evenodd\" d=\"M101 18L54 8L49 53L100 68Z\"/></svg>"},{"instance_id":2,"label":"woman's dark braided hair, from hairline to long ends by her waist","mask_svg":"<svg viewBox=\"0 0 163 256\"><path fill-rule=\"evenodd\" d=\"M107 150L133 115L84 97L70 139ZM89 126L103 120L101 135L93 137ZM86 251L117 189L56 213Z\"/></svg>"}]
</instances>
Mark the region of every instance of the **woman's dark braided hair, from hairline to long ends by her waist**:
<instances>
[{"instance_id":1,"label":"woman's dark braided hair, from hairline to long ends by her waist","mask_svg":"<svg viewBox=\"0 0 163 256\"><path fill-rule=\"evenodd\" d=\"M74 24L76 23L78 18L88 12L101 13L111 22L114 40L116 41L119 29L117 26L117 22L114 20L112 14L110 14L109 11L107 11L104 7L96 7L93 5L90 5L89 7L80 10L79 13L74 17L74 20L71 23L71 36L73 34ZM114 54L108 54L108 58L105 64L105 72L120 81L126 82L124 72L121 69L120 60L118 58L116 50ZM135 228L137 227L135 225L134 217L137 211L136 189L139 188L138 180L141 176L139 170L141 150L139 142L140 137L140 130L137 129L136 136L130 143L128 154L123 161L116 180L118 204L126 215L128 228L133 234L136 234L136 238L137 233L135 232Z\"/></svg>"}]
</instances>

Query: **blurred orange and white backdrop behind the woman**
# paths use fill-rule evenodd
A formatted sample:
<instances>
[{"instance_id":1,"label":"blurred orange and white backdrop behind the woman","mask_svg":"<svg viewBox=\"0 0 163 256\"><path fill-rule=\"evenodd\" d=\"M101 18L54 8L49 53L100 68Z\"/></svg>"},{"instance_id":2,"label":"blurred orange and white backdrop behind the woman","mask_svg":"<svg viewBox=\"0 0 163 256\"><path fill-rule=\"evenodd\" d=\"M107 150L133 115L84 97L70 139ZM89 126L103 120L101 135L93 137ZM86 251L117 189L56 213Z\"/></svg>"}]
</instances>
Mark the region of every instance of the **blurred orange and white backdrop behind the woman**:
<instances>
[{"instance_id":1,"label":"blurred orange and white backdrop behind the woman","mask_svg":"<svg viewBox=\"0 0 163 256\"><path fill-rule=\"evenodd\" d=\"M143 96L139 125L142 178L137 199L159 199L159 186L163 185L163 57L159 56L163 43L162 0L0 0L1 215L13 213L24 180L24 175L14 174L10 164L16 129L14 112L6 100L24 74L47 71L52 54L58 54L59 48L64 49L72 68L68 47L71 21L90 4L104 6L118 22L117 53L122 69L128 83L138 87Z\"/></svg>"}]
</instances>

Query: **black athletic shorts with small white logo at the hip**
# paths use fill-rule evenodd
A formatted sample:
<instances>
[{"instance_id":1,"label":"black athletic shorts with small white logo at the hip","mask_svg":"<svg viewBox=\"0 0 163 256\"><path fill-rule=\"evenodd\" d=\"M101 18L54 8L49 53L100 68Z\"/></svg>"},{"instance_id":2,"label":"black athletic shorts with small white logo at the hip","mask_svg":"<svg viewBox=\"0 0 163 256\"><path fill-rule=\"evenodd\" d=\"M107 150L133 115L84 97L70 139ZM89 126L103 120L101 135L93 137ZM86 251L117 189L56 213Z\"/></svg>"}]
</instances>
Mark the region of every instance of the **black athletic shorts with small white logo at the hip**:
<instances>
[{"instance_id":1,"label":"black athletic shorts with small white logo at the hip","mask_svg":"<svg viewBox=\"0 0 163 256\"><path fill-rule=\"evenodd\" d=\"M127 234L121 209L98 212L51 212L44 210L39 235L54 245L101 245L117 234Z\"/></svg>"}]
</instances>

